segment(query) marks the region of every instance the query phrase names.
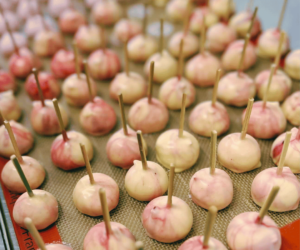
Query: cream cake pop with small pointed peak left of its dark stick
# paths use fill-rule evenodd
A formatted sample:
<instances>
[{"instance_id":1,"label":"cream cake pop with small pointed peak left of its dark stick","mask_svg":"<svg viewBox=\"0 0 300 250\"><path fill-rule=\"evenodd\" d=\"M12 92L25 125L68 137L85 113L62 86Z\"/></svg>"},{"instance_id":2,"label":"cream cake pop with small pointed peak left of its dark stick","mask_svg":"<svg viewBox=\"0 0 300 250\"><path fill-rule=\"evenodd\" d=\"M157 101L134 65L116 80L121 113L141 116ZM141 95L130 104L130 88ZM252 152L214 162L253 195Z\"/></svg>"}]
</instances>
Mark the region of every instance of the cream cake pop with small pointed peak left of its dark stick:
<instances>
[{"instance_id":1,"label":"cream cake pop with small pointed peak left of its dark stick","mask_svg":"<svg viewBox=\"0 0 300 250\"><path fill-rule=\"evenodd\" d=\"M168 176L160 165L147 161L141 131L137 132L137 138L142 161L133 161L125 176L125 189L134 199L151 201L167 191Z\"/></svg>"}]
</instances>

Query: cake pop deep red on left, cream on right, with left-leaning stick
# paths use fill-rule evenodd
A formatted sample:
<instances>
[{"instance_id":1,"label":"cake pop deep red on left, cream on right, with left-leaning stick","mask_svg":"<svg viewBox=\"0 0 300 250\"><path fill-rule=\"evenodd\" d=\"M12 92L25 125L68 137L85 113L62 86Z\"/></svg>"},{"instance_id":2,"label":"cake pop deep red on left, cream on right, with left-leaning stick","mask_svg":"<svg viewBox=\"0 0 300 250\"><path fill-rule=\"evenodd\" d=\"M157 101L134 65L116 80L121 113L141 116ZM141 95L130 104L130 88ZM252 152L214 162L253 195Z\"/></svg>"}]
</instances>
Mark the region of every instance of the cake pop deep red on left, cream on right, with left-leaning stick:
<instances>
[{"instance_id":1,"label":"cake pop deep red on left, cream on right, with left-leaning stick","mask_svg":"<svg viewBox=\"0 0 300 250\"><path fill-rule=\"evenodd\" d=\"M62 134L56 137L51 145L51 159L55 166L63 170L72 170L83 167L84 159L82 155L78 153L79 143L86 146L89 160L91 160L94 155L92 143L87 137L79 132L66 132L56 99L53 99L53 104Z\"/></svg>"}]
</instances>

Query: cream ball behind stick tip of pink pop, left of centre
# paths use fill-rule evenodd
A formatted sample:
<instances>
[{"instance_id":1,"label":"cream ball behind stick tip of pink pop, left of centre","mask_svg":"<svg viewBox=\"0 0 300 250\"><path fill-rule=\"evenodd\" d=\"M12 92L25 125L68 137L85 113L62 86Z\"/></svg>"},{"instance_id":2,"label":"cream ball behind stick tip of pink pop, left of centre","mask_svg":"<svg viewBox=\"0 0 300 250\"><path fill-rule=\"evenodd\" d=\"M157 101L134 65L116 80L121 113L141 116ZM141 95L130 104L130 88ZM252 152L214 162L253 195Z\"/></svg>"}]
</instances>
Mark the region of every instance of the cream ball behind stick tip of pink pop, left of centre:
<instances>
[{"instance_id":1,"label":"cream ball behind stick tip of pink pop, left of centre","mask_svg":"<svg viewBox=\"0 0 300 250\"><path fill-rule=\"evenodd\" d=\"M144 78L135 72L121 72L115 76L109 85L109 95L112 99L118 100L118 94L123 94L123 102L132 104L143 98L147 92L147 85Z\"/></svg>"}]
</instances>

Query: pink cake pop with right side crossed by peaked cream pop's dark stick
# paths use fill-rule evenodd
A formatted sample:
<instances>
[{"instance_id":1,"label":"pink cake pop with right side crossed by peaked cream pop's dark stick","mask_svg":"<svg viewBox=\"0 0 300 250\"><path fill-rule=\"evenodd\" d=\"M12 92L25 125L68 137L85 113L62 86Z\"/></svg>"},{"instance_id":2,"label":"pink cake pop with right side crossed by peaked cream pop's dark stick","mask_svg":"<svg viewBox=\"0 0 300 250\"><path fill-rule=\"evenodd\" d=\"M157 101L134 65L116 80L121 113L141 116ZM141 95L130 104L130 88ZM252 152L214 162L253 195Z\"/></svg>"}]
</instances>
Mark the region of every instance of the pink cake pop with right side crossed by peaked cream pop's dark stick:
<instances>
[{"instance_id":1,"label":"pink cake pop with right side crossed by peaked cream pop's dark stick","mask_svg":"<svg viewBox=\"0 0 300 250\"><path fill-rule=\"evenodd\" d=\"M106 144L106 154L109 161L115 166L128 169L134 160L141 160L139 153L136 132L128 128L124 112L123 95L118 95L121 110L123 129L114 133ZM147 154L147 144L143 141L143 146Z\"/></svg>"}]
</instances>

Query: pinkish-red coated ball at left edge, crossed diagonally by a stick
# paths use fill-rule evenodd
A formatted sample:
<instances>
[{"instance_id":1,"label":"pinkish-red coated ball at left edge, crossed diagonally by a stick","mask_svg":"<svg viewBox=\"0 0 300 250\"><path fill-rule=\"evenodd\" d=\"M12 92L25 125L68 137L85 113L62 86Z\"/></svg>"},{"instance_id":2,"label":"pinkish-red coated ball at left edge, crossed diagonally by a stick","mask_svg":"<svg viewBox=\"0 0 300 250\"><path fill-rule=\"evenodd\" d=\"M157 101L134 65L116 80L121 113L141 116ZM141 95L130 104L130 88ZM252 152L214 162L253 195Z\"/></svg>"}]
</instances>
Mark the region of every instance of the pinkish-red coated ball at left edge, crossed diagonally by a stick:
<instances>
[{"instance_id":1,"label":"pinkish-red coated ball at left edge, crossed diagonally by a stick","mask_svg":"<svg viewBox=\"0 0 300 250\"><path fill-rule=\"evenodd\" d=\"M27 153L33 147L33 137L30 131L15 121L9 121L9 124L17 141L20 154ZM15 150L5 126L2 125L0 127L0 155L9 158L13 154L15 154Z\"/></svg>"}]
</instances>

